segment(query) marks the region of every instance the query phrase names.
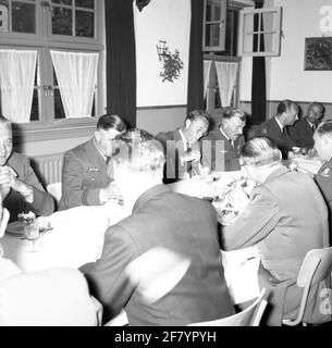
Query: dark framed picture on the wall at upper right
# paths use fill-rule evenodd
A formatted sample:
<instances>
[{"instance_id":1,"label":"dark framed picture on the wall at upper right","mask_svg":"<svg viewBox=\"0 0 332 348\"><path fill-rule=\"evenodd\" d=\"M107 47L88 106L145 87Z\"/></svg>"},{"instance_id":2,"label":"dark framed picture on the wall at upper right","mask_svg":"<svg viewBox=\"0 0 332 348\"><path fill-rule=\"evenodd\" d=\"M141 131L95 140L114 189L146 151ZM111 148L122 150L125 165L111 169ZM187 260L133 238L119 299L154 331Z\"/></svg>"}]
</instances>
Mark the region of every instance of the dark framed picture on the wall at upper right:
<instances>
[{"instance_id":1,"label":"dark framed picture on the wall at upper right","mask_svg":"<svg viewBox=\"0 0 332 348\"><path fill-rule=\"evenodd\" d=\"M332 71L332 37L307 37L305 71Z\"/></svg>"}]
</instances>

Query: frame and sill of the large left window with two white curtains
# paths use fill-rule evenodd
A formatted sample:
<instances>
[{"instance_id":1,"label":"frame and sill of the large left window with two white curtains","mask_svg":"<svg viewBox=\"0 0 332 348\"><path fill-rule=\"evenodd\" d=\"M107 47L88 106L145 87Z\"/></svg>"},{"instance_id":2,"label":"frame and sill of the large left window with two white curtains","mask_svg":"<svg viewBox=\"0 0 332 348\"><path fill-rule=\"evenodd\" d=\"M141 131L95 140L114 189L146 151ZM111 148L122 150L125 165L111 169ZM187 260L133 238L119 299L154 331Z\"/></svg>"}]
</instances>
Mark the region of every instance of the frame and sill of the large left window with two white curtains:
<instances>
[{"instance_id":1,"label":"frame and sill of the large left window with two white curtains","mask_svg":"<svg viewBox=\"0 0 332 348\"><path fill-rule=\"evenodd\" d=\"M37 64L40 63L40 86L38 92L42 92L44 82L53 82L53 66L50 57L51 49L62 49L70 51L93 51L99 52L99 62L97 71L97 91L95 94L95 114L96 116L104 113L104 29L103 29L103 13L104 7L102 1L95 1L95 38L82 37L63 37L60 35L48 35L47 21L51 13L48 9L41 7L40 2L36 1L36 33L39 34L24 34L24 33L0 33L1 44L0 49L36 49L38 50ZM47 12L47 13L46 13ZM47 14L47 17L45 16ZM11 15L10 15L11 17ZM11 20L9 20L11 22ZM50 23L50 22L49 22ZM10 23L9 23L10 25ZM51 25L51 23L50 23ZM41 34L41 27L44 32ZM42 51L42 54L39 52ZM49 55L48 58L46 55ZM39 62L42 61L42 62ZM46 62L48 61L48 62ZM38 69L38 66L37 66ZM0 97L1 98L1 97ZM0 99L1 100L1 99ZM52 98L53 100L53 98ZM26 141L40 141L50 139L61 139L67 137L79 137L90 134L96 127L97 117L82 117L82 119L56 119L53 111L49 111L49 103L45 99L38 98L39 102L39 120L30 121L28 123L13 123L14 142L15 138L22 137ZM52 105L53 107L53 105ZM1 107L0 107L1 109ZM52 109L53 110L53 109Z\"/></svg>"}]
</instances>

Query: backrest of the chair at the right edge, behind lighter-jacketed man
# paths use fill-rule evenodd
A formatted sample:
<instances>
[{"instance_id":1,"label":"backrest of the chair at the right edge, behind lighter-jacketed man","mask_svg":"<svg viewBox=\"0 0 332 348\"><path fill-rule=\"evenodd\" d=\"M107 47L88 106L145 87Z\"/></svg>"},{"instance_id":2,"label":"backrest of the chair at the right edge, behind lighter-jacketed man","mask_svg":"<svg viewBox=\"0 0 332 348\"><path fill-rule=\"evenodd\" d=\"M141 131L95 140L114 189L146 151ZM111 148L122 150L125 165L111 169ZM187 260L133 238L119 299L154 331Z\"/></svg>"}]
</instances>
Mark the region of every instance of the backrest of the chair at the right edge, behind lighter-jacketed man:
<instances>
[{"instance_id":1,"label":"backrest of the chair at the right edge, behind lighter-jacketed man","mask_svg":"<svg viewBox=\"0 0 332 348\"><path fill-rule=\"evenodd\" d=\"M306 254L297 276L297 286L305 287L323 281L332 268L332 247L312 249Z\"/></svg>"}]
</instances>

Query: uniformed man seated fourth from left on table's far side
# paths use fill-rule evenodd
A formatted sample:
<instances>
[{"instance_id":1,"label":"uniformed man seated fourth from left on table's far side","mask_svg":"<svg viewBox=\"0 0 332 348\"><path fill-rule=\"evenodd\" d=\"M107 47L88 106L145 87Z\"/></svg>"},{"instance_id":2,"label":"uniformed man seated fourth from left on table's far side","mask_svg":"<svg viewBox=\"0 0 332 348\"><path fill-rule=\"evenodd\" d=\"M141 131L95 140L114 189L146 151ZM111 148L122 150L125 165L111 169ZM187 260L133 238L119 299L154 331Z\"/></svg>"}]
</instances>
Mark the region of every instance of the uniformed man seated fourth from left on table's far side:
<instances>
[{"instance_id":1,"label":"uniformed man seated fourth from left on table's far side","mask_svg":"<svg viewBox=\"0 0 332 348\"><path fill-rule=\"evenodd\" d=\"M220 126L200 139L202 166L217 172L238 171L239 150L245 142L243 136L245 125L244 111L225 108Z\"/></svg>"}]
</instances>

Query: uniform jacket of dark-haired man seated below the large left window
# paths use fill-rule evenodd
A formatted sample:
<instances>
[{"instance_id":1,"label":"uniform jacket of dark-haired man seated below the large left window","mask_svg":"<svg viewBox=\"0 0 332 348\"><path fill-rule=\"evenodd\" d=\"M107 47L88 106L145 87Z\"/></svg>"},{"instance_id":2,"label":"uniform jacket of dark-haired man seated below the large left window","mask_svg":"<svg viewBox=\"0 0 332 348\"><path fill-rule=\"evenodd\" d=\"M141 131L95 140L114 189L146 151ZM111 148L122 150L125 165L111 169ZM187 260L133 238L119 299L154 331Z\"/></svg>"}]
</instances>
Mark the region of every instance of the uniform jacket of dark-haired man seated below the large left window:
<instances>
[{"instance_id":1,"label":"uniform jacket of dark-haired man seated below the large left window","mask_svg":"<svg viewBox=\"0 0 332 348\"><path fill-rule=\"evenodd\" d=\"M62 197L59 209L77 206L100 206L100 188L112 181L107 163L97 150L94 138L63 156Z\"/></svg>"}]
</instances>

